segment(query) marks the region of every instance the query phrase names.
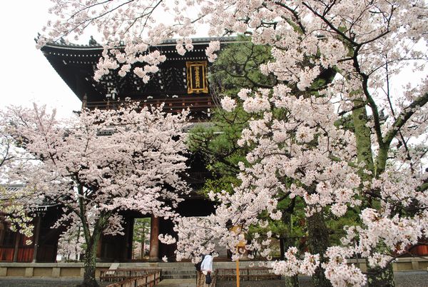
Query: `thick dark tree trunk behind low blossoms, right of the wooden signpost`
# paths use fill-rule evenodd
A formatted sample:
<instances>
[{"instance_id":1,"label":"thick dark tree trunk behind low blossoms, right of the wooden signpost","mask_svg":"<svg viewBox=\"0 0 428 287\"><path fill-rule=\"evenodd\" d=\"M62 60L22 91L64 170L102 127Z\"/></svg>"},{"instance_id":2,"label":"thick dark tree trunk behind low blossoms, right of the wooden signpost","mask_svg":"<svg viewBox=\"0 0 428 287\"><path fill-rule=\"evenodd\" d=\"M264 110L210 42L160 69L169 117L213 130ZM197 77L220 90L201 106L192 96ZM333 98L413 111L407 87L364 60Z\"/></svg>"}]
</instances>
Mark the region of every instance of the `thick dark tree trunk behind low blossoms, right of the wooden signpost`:
<instances>
[{"instance_id":1,"label":"thick dark tree trunk behind low blossoms, right of the wooden signpost","mask_svg":"<svg viewBox=\"0 0 428 287\"><path fill-rule=\"evenodd\" d=\"M307 243L312 254L320 254L321 263L325 261L324 254L329 247L328 230L325 225L322 212L315 213L307 218ZM315 274L312 276L312 281L317 287L331 287L330 281L325 278L325 270L318 266Z\"/></svg>"}]
</instances>

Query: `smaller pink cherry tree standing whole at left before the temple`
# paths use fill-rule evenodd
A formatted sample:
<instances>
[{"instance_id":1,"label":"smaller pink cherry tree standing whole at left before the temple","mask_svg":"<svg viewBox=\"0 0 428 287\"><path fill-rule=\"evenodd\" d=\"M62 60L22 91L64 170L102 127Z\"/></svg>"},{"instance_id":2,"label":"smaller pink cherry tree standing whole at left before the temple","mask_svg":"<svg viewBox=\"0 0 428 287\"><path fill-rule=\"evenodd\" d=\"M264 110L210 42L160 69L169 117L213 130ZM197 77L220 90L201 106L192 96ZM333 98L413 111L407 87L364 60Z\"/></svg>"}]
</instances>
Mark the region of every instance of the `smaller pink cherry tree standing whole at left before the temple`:
<instances>
[{"instance_id":1,"label":"smaller pink cherry tree standing whole at left before the temple","mask_svg":"<svg viewBox=\"0 0 428 287\"><path fill-rule=\"evenodd\" d=\"M172 218L187 190L185 166L187 111L134 104L115 111L82 111L58 121L44 107L8 112L11 136L38 158L29 178L42 199L62 206L56 226L81 226L86 249L82 286L98 286L96 247L101 233L122 233L121 211Z\"/></svg>"}]
</instances>

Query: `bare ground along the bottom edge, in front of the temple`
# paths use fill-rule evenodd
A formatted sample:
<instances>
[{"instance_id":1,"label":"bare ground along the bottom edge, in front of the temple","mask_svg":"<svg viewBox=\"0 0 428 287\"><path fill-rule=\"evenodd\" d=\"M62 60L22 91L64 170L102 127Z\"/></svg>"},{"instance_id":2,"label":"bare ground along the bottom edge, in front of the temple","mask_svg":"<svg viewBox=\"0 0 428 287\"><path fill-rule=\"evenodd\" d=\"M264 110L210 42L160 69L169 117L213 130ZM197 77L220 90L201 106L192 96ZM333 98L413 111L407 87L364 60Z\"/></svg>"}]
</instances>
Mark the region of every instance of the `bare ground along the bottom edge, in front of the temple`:
<instances>
[{"instance_id":1,"label":"bare ground along the bottom edge, in front of the temple","mask_svg":"<svg viewBox=\"0 0 428 287\"><path fill-rule=\"evenodd\" d=\"M300 277L300 287L314 287L308 277ZM74 287L81 283L76 278L0 278L0 287ZM428 272L409 271L395 273L396 287L428 287ZM104 283L101 286L106 286ZM168 279L163 280L157 286L163 287L194 287L195 279ZM235 281L220 281L218 287L236 286ZM241 287L280 287L282 281L241 281Z\"/></svg>"}]
</instances>

